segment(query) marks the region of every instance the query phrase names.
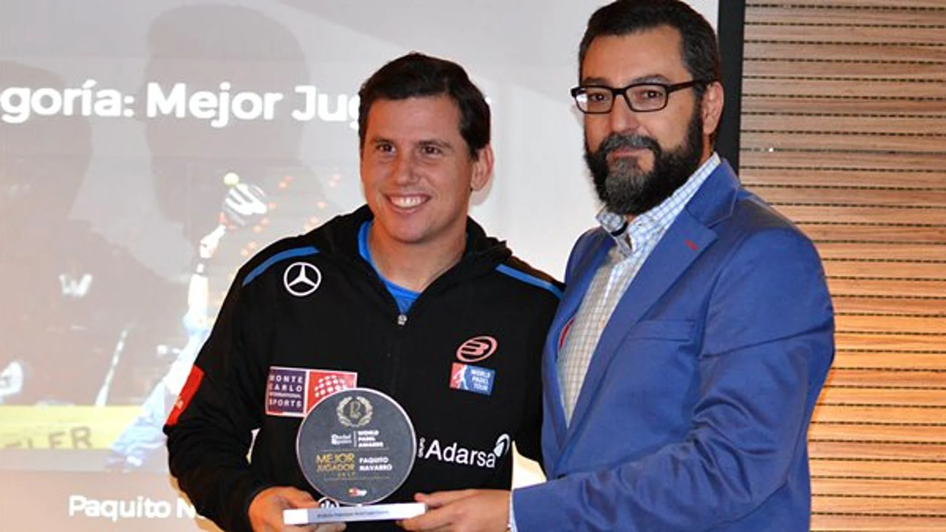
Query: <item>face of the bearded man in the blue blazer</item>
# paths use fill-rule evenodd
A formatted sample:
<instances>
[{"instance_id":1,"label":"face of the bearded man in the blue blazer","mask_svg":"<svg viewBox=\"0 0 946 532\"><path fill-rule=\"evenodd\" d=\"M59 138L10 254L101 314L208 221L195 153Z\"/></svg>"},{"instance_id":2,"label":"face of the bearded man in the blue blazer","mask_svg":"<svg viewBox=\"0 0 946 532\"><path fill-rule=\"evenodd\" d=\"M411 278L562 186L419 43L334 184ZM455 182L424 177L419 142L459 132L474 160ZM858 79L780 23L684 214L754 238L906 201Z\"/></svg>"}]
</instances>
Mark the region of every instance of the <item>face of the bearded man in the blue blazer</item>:
<instances>
[{"instance_id":1,"label":"face of the bearded man in the blue blazer","mask_svg":"<svg viewBox=\"0 0 946 532\"><path fill-rule=\"evenodd\" d=\"M583 85L623 87L690 81L679 32L658 26L595 38L582 63ZM639 215L669 197L710 157L710 133L722 113L722 87L701 99L693 89L669 94L657 112L633 112L623 98L611 112L585 115L586 161L608 210Z\"/></svg>"}]
</instances>

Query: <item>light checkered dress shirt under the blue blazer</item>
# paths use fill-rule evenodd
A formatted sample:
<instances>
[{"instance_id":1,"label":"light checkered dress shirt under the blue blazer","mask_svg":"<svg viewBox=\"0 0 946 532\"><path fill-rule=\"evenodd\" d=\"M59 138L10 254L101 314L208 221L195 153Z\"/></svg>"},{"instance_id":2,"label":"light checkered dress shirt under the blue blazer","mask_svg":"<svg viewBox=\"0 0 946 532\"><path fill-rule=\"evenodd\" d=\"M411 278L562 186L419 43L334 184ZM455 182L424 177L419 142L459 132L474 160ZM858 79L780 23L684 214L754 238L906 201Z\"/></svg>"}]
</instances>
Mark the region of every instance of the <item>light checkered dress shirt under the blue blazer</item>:
<instances>
[{"instance_id":1,"label":"light checkered dress shirt under the blue blazer","mask_svg":"<svg viewBox=\"0 0 946 532\"><path fill-rule=\"evenodd\" d=\"M558 355L558 379L562 390L562 403L565 406L565 419L569 423L575 403L578 402L578 393L585 381L588 365L591 363L591 356L624 290L634 281L640 266L657 247L660 238L674 223L676 216L683 211L684 206L719 163L719 155L713 153L671 197L635 217L626 224L622 232L623 216L607 211L598 214L598 222L605 231L614 235L617 245L608 251L604 264L598 268L588 286Z\"/></svg>"}]
</instances>

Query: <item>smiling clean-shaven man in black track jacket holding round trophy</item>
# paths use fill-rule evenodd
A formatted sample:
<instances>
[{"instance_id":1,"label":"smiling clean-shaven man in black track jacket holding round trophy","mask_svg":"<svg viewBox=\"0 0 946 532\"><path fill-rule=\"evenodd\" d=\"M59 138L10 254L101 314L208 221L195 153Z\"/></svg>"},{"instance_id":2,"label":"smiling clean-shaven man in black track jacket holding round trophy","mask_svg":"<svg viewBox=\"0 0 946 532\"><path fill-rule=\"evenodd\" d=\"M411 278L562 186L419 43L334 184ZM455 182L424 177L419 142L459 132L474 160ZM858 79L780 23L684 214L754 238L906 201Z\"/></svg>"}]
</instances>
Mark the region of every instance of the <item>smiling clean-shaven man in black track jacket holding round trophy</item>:
<instances>
[{"instance_id":1,"label":"smiling clean-shaven man in black track jacket holding round trophy","mask_svg":"<svg viewBox=\"0 0 946 532\"><path fill-rule=\"evenodd\" d=\"M482 93L459 65L409 54L359 96L367 205L240 269L167 420L170 471L228 531L283 530L284 509L316 506L295 438L326 389L374 388L411 416L414 466L386 503L508 489L511 441L539 454L539 357L560 290L467 216L493 168Z\"/></svg>"}]
</instances>

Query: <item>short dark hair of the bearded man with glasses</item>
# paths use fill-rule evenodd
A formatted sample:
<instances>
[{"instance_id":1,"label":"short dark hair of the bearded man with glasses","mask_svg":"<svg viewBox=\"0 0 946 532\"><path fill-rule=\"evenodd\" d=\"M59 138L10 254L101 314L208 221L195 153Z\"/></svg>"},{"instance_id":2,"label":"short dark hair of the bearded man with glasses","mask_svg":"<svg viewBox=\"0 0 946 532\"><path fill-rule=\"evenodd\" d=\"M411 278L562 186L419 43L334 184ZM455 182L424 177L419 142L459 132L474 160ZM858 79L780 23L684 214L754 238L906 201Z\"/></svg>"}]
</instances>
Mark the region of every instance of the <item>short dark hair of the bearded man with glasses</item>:
<instances>
[{"instance_id":1,"label":"short dark hair of the bearded man with glasses","mask_svg":"<svg viewBox=\"0 0 946 532\"><path fill-rule=\"evenodd\" d=\"M617 0L595 11L578 47L579 79L588 46L597 37L628 35L659 26L670 26L680 33L680 54L693 79L720 79L716 32L701 14L680 0ZM706 86L697 85L693 92L700 98Z\"/></svg>"}]
</instances>

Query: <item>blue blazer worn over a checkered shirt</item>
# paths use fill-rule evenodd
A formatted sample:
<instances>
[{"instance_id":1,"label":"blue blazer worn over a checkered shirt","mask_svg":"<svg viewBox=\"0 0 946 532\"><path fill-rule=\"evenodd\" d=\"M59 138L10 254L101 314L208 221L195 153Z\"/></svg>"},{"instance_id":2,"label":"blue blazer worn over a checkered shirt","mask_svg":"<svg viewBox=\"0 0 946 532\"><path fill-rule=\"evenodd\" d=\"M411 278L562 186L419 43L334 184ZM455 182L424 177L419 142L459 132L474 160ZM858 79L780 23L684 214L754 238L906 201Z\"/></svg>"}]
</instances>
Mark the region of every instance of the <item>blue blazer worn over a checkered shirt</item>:
<instances>
[{"instance_id":1,"label":"blue blazer worn over a checkered shirt","mask_svg":"<svg viewBox=\"0 0 946 532\"><path fill-rule=\"evenodd\" d=\"M612 246L597 228L569 257L543 361L549 481L514 491L519 532L808 532L834 353L811 241L720 164L618 302L569 425L558 351Z\"/></svg>"}]
</instances>

